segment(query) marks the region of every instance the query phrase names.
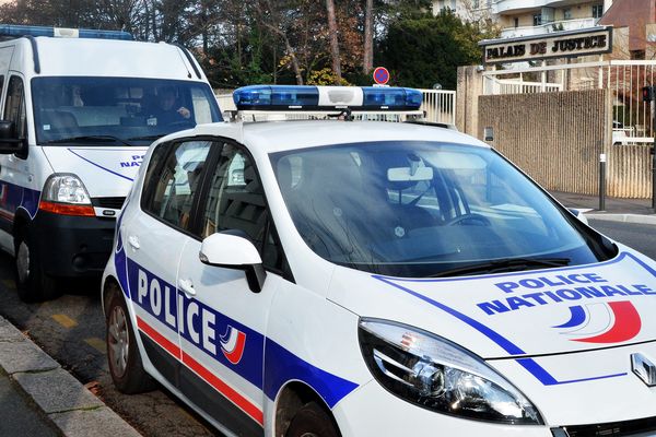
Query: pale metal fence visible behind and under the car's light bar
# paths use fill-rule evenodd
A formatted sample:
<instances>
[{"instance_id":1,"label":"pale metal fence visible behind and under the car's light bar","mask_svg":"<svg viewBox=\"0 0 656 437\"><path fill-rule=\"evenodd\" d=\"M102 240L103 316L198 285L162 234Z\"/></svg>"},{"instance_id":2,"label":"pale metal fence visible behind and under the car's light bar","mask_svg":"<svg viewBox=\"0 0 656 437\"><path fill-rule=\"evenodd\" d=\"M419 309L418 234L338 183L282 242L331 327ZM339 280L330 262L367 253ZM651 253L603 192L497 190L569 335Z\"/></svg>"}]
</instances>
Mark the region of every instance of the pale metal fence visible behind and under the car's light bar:
<instances>
[{"instance_id":1,"label":"pale metal fence visible behind and under the car's light bar","mask_svg":"<svg viewBox=\"0 0 656 437\"><path fill-rule=\"evenodd\" d=\"M456 123L456 92L444 90L420 90L423 94L423 103L420 110L424 111L425 120L432 122L455 125ZM232 93L216 94L216 101L221 110L235 110ZM316 113L285 113L285 120L301 120L317 118ZM395 114L355 114L359 120L379 121L403 121L405 117Z\"/></svg>"}]
</instances>

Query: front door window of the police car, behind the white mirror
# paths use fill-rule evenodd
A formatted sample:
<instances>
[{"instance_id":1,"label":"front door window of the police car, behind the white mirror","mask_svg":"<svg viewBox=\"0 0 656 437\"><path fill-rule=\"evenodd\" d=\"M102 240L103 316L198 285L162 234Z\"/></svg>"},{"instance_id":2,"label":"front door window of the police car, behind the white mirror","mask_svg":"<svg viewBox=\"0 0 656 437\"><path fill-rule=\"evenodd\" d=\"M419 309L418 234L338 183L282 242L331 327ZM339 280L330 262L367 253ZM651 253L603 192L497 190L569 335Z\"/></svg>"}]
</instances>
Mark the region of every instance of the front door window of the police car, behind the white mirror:
<instances>
[{"instance_id":1,"label":"front door window of the police car, behind the white mirror","mask_svg":"<svg viewBox=\"0 0 656 437\"><path fill-rule=\"evenodd\" d=\"M238 146L225 143L209 181L200 209L202 238L221 231L242 231L260 251L265 267L282 270L282 250L253 160Z\"/></svg>"}]
</instances>

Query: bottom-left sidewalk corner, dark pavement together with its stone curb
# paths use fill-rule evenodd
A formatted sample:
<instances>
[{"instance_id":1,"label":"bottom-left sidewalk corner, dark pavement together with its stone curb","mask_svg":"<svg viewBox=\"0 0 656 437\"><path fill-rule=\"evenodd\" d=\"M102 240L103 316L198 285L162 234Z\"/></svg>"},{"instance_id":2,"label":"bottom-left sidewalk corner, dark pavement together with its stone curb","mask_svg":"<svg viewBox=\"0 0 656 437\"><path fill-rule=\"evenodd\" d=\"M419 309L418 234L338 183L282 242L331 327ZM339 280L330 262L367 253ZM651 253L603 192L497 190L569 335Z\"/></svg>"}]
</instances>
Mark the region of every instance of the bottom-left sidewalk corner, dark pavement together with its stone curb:
<instances>
[{"instance_id":1,"label":"bottom-left sidewalk corner, dark pavement together with its stone curb","mask_svg":"<svg viewBox=\"0 0 656 437\"><path fill-rule=\"evenodd\" d=\"M3 417L9 418L0 422L2 436L140 436L2 317L0 401Z\"/></svg>"}]
</instances>

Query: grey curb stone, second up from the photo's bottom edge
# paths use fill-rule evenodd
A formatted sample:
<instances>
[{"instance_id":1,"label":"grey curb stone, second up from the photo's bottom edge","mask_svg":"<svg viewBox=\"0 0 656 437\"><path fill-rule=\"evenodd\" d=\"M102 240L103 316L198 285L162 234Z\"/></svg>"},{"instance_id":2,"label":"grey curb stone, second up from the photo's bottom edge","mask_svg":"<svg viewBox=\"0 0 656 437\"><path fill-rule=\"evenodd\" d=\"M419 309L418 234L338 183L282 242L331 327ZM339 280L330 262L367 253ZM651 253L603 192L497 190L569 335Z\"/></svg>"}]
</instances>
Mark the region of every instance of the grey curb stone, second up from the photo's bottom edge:
<instances>
[{"instance_id":1,"label":"grey curb stone, second up from the photo's bottom edge","mask_svg":"<svg viewBox=\"0 0 656 437\"><path fill-rule=\"evenodd\" d=\"M46 414L104 405L62 368L35 374L14 374L13 378Z\"/></svg>"}]
</instances>

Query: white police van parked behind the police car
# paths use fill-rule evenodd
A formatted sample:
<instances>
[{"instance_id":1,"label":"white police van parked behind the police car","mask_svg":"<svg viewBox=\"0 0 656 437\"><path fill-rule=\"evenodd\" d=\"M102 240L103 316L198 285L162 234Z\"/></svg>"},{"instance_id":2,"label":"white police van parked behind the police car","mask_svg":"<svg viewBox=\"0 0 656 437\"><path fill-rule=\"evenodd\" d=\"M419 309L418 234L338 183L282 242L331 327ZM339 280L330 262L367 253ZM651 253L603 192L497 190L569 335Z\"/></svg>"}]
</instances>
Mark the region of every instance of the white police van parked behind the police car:
<instances>
[{"instance_id":1,"label":"white police van parked behind the police car","mask_svg":"<svg viewBox=\"0 0 656 437\"><path fill-rule=\"evenodd\" d=\"M148 145L221 120L186 49L131 39L0 25L0 247L25 300L99 276Z\"/></svg>"}]
</instances>

